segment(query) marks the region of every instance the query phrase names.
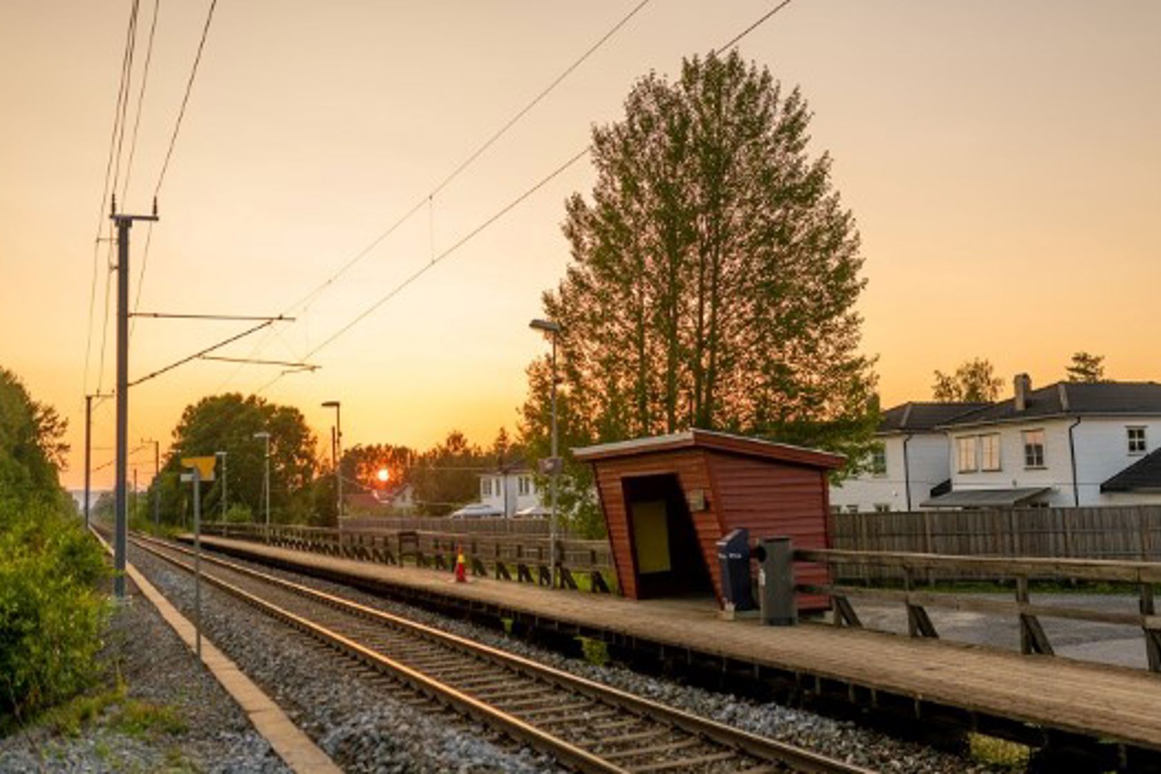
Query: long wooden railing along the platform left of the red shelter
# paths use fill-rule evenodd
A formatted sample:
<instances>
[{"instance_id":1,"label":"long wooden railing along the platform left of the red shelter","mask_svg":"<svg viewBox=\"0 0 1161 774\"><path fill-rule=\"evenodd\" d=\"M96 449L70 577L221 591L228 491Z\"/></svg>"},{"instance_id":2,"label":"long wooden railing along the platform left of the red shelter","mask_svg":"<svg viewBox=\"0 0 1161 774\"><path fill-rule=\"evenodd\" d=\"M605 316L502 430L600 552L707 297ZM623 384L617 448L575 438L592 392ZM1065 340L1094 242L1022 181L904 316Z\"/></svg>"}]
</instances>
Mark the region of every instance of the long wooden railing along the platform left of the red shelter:
<instances>
[{"instance_id":1,"label":"long wooden railing along the platform left of the red shelter","mask_svg":"<svg viewBox=\"0 0 1161 774\"><path fill-rule=\"evenodd\" d=\"M450 571L456 555L474 576L492 576L541 586L551 585L549 538L529 535L486 535L425 530L340 530L325 527L232 525L202 526L207 535L251 540L289 548L383 564L413 564ZM564 588L608 593L614 577L607 541L557 540L557 571ZM578 580L583 579L583 581Z\"/></svg>"}]
</instances>

